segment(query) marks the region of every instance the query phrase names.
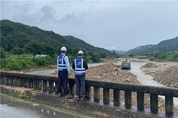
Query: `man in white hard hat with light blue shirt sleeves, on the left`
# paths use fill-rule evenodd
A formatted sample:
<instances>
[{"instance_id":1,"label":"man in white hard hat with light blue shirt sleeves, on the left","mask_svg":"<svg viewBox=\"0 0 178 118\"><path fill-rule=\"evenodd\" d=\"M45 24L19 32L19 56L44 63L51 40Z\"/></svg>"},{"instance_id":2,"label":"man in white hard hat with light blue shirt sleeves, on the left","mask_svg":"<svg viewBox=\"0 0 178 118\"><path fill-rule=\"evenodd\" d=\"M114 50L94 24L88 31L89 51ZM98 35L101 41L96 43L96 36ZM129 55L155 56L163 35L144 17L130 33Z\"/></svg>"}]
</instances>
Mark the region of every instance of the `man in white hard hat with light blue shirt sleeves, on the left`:
<instances>
[{"instance_id":1,"label":"man in white hard hat with light blue shirt sleeves, on the left","mask_svg":"<svg viewBox=\"0 0 178 118\"><path fill-rule=\"evenodd\" d=\"M66 47L61 48L61 54L57 57L57 69L58 69L58 95L66 95L69 98L68 88L68 76L70 76L70 64L68 56L66 56ZM64 91L62 91L62 88ZM70 96L71 97L71 96Z\"/></svg>"}]
</instances>

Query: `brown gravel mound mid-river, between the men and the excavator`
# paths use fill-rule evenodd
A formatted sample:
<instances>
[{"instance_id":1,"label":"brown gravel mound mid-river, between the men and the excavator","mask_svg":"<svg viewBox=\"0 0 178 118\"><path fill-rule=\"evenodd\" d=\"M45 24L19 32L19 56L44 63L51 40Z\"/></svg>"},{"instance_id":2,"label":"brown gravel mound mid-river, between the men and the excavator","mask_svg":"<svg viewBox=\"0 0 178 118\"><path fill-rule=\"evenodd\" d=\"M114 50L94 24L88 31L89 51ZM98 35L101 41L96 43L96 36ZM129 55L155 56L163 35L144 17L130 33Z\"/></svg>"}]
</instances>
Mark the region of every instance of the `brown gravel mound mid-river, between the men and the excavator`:
<instances>
[{"instance_id":1,"label":"brown gravel mound mid-river, between the men and the excavator","mask_svg":"<svg viewBox=\"0 0 178 118\"><path fill-rule=\"evenodd\" d=\"M74 78L74 71L70 77ZM119 65L112 63L90 67L86 71L86 79L140 84L135 75L127 70L120 70Z\"/></svg>"}]
</instances>

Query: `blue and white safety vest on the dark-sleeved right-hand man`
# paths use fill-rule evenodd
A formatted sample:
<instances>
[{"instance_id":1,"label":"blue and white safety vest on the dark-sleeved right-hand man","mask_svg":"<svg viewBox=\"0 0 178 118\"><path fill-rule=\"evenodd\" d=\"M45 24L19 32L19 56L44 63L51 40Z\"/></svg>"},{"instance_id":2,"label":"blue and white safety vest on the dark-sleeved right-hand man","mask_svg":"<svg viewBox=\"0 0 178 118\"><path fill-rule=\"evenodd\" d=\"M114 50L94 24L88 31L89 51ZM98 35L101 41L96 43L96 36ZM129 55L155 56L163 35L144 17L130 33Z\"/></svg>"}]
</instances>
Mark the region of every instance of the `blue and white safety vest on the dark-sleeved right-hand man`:
<instances>
[{"instance_id":1,"label":"blue and white safety vest on the dark-sleeved right-hand man","mask_svg":"<svg viewBox=\"0 0 178 118\"><path fill-rule=\"evenodd\" d=\"M85 68L83 67L84 66L83 59L77 58L74 60L74 63L75 63L75 75L84 76Z\"/></svg>"}]
</instances>

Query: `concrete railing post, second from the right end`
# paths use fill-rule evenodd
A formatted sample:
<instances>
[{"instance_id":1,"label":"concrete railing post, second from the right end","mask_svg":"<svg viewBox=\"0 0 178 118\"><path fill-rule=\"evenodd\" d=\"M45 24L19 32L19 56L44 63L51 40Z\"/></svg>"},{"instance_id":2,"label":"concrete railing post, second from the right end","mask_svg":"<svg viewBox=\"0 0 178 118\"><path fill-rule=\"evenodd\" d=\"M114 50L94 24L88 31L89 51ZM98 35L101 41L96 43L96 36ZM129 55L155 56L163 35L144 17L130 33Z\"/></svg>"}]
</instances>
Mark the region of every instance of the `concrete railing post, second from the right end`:
<instances>
[{"instance_id":1,"label":"concrete railing post, second from the right end","mask_svg":"<svg viewBox=\"0 0 178 118\"><path fill-rule=\"evenodd\" d=\"M151 112L153 113L158 112L158 95L150 94L150 107L151 107Z\"/></svg>"}]
</instances>

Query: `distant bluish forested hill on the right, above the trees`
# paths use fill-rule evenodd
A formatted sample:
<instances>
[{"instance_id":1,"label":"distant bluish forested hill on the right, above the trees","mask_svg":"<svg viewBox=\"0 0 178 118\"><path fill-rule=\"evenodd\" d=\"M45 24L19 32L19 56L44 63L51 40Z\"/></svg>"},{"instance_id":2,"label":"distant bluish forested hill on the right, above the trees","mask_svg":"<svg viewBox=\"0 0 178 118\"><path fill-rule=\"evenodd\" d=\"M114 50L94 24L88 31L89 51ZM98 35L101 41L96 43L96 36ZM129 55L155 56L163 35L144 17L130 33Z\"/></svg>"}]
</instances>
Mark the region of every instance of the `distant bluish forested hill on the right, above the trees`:
<instances>
[{"instance_id":1,"label":"distant bluish forested hill on the right, above the trees","mask_svg":"<svg viewBox=\"0 0 178 118\"><path fill-rule=\"evenodd\" d=\"M178 37L163 40L157 45L138 46L134 49L127 51L127 54L150 54L154 52L175 52L178 51Z\"/></svg>"}]
</instances>

